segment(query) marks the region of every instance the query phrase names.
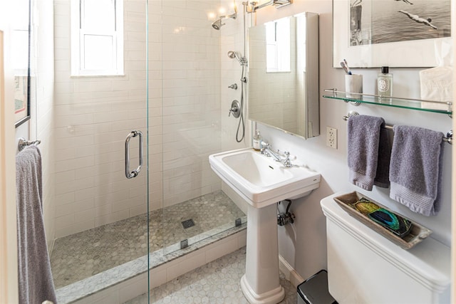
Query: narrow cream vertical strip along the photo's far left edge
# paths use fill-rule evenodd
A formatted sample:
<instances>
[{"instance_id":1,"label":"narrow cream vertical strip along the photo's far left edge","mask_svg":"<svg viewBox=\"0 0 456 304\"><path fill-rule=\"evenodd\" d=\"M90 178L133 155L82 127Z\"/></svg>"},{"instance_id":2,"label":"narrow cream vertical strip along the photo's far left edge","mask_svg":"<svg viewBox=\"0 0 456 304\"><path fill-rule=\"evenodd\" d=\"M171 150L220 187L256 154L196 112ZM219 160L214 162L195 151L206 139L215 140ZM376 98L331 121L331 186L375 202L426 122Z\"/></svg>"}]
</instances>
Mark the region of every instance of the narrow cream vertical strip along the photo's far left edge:
<instances>
[{"instance_id":1,"label":"narrow cream vertical strip along the photo's far left edge","mask_svg":"<svg viewBox=\"0 0 456 304\"><path fill-rule=\"evenodd\" d=\"M0 302L18 303L14 70L11 2L0 1Z\"/></svg>"}]
</instances>

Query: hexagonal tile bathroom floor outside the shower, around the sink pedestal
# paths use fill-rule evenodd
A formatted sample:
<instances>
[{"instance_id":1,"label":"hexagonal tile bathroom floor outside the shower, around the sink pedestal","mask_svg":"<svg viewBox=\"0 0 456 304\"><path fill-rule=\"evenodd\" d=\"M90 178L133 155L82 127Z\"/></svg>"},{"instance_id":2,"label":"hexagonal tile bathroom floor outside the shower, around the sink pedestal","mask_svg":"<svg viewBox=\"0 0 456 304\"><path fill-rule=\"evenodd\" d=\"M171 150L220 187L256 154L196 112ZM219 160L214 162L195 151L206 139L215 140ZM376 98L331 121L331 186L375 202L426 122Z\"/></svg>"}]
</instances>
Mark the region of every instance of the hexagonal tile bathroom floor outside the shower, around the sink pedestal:
<instances>
[{"instance_id":1,"label":"hexagonal tile bathroom floor outside the shower, around the sink pedestal","mask_svg":"<svg viewBox=\"0 0 456 304\"><path fill-rule=\"evenodd\" d=\"M245 248L242 248L150 290L150 303L248 304L240 285L244 273ZM280 283L285 289L281 303L296 304L296 288L282 274ZM147 304L147 294L125 304Z\"/></svg>"}]
</instances>

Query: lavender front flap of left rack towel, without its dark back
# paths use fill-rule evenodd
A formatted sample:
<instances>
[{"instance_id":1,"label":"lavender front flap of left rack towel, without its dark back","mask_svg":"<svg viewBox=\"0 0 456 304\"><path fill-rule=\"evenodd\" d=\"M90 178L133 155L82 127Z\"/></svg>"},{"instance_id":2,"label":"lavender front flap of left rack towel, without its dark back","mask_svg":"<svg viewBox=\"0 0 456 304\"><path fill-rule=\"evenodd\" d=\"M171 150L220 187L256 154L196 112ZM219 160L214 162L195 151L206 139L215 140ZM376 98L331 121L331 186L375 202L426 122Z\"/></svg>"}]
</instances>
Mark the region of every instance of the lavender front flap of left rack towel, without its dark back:
<instances>
[{"instance_id":1,"label":"lavender front flap of left rack towel, without its dark back","mask_svg":"<svg viewBox=\"0 0 456 304\"><path fill-rule=\"evenodd\" d=\"M377 176L380 129L384 124L383 118L368 115L353 115L348 119L348 178L368 191L372 190Z\"/></svg>"}]
</instances>

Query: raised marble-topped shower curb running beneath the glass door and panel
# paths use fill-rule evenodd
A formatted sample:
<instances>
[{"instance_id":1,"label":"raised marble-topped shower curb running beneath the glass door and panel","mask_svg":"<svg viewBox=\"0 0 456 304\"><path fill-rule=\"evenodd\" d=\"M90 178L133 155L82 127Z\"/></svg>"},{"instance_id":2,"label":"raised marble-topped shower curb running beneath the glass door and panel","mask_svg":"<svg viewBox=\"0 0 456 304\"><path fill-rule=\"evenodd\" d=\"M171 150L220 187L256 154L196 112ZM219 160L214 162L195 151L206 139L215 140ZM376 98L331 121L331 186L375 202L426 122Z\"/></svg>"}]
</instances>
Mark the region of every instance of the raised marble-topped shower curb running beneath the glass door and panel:
<instances>
[{"instance_id":1,"label":"raised marble-topped shower curb running beneath the glass door and panel","mask_svg":"<svg viewBox=\"0 0 456 304\"><path fill-rule=\"evenodd\" d=\"M152 276L150 276L150 288L155 288L183 273L209 263L209 260L213 261L246 246L246 229L247 223L244 223L241 226L227 229L197 243L192 243L192 245L180 251L166 255L164 255L163 250L151 253L150 272ZM190 261L197 256L199 251L204 254L203 263ZM212 252L207 254L209 251ZM185 263L187 260L190 263ZM172 265L166 267L168 263ZM178 267L180 272L183 271L182 273L167 269L181 263L185 264L184 267L182 265ZM155 276L159 279L156 279ZM147 293L147 256L142 256L56 290L59 304L95 302L121 304L142 293Z\"/></svg>"}]
</instances>

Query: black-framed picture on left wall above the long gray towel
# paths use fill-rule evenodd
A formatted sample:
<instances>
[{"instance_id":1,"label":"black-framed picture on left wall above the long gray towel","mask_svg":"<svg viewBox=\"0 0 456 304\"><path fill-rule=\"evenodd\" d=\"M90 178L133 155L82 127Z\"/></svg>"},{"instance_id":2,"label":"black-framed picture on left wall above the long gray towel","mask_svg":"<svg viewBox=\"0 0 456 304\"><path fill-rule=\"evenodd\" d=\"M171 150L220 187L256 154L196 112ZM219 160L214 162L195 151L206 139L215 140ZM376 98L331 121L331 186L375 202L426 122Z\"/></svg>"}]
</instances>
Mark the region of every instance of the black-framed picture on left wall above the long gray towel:
<instances>
[{"instance_id":1,"label":"black-framed picture on left wall above the long gray towel","mask_svg":"<svg viewBox=\"0 0 456 304\"><path fill-rule=\"evenodd\" d=\"M16 127L30 119L31 0L11 1L16 9L11 25L11 65L14 69L14 121Z\"/></svg>"}]
</instances>

